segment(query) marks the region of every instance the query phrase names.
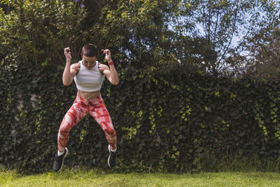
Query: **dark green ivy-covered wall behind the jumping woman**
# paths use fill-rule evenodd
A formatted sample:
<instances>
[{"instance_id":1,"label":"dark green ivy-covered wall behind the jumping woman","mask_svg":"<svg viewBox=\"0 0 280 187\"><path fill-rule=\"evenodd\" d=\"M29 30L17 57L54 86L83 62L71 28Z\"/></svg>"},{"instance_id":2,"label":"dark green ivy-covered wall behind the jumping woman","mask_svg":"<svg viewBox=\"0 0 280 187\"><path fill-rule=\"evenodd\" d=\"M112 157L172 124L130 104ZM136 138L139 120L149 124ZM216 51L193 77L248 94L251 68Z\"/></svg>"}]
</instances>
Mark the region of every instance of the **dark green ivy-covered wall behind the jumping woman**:
<instances>
[{"instance_id":1,"label":"dark green ivy-covered wall behind the jumping woman","mask_svg":"<svg viewBox=\"0 0 280 187\"><path fill-rule=\"evenodd\" d=\"M50 171L57 132L76 97L57 67L0 71L0 163L18 171ZM280 84L276 81L119 71L102 97L118 134L117 169L190 172L222 159L280 153ZM86 117L71 130L70 167L107 168L102 128ZM203 163L203 164L202 164Z\"/></svg>"}]
</instances>

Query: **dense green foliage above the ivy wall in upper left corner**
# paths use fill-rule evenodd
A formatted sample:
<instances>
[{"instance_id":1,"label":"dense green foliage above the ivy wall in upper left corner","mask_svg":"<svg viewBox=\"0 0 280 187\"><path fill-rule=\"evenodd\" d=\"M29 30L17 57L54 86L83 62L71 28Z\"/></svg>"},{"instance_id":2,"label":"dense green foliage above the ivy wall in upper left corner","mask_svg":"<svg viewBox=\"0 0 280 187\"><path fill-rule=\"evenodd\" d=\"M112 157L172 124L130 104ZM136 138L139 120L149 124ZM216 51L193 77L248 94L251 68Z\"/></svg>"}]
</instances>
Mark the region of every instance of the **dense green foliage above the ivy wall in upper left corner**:
<instances>
[{"instance_id":1,"label":"dense green foliage above the ivy wall in upper left corner","mask_svg":"<svg viewBox=\"0 0 280 187\"><path fill-rule=\"evenodd\" d=\"M1 65L61 64L62 51L70 46L77 60L87 31L82 22L87 15L74 1L16 1L13 11L0 12Z\"/></svg>"}]
</instances>

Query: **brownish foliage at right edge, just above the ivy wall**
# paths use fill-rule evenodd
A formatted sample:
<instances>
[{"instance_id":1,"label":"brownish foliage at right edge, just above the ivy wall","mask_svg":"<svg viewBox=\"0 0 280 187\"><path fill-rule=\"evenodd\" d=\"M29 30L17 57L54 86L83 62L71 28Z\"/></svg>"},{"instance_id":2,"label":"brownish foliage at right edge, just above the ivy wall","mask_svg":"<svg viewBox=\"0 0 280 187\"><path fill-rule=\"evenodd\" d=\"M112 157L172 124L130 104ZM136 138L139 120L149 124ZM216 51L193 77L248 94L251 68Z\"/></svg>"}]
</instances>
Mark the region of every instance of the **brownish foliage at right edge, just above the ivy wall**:
<instances>
[{"instance_id":1,"label":"brownish foliage at right edge, just above the ivy wall","mask_svg":"<svg viewBox=\"0 0 280 187\"><path fill-rule=\"evenodd\" d=\"M244 56L235 57L236 61L244 62L246 60L244 67L246 75L279 78L279 36L279 29L266 28L246 39L246 43L244 43L244 47L248 51L246 59Z\"/></svg>"}]
</instances>

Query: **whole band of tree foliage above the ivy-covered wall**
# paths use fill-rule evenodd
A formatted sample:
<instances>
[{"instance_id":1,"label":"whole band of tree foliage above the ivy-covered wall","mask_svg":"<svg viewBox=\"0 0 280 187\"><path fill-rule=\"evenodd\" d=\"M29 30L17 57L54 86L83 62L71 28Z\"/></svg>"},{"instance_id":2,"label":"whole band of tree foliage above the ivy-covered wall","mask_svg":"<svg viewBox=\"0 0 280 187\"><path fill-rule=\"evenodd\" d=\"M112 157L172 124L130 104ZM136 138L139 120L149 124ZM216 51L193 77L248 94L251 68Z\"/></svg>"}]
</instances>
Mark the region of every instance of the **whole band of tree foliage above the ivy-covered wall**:
<instances>
[{"instance_id":1,"label":"whole band of tree foliage above the ivy-covered wall","mask_svg":"<svg viewBox=\"0 0 280 187\"><path fill-rule=\"evenodd\" d=\"M262 37L267 28L279 28L279 5L274 0L2 0L1 65L61 65L67 46L76 62L81 46L95 43L110 48L121 67L236 74L271 61L269 54L256 59L248 52L257 47L251 39Z\"/></svg>"}]
</instances>

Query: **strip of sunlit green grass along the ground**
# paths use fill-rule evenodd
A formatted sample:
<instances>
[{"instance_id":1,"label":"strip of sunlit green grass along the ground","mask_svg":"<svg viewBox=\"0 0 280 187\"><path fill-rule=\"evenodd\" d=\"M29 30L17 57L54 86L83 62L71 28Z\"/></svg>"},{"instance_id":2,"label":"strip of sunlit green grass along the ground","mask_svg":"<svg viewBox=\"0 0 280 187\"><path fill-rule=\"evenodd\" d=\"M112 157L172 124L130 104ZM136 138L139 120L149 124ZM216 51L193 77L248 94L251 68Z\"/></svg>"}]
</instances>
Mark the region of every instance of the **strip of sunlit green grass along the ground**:
<instances>
[{"instance_id":1,"label":"strip of sunlit green grass along the ground","mask_svg":"<svg viewBox=\"0 0 280 187\"><path fill-rule=\"evenodd\" d=\"M0 186L280 186L279 173L118 174L101 170L21 175L0 172Z\"/></svg>"}]
</instances>

